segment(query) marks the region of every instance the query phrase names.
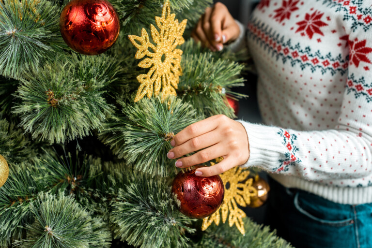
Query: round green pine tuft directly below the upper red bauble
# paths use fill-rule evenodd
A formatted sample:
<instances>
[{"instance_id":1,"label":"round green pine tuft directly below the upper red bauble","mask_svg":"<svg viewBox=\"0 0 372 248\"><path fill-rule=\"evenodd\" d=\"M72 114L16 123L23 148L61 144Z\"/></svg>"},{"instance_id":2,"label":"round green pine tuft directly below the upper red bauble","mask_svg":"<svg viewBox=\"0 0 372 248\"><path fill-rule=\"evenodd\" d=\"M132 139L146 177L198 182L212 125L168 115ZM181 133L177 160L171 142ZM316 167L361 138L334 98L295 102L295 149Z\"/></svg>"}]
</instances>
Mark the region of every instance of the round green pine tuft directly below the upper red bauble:
<instances>
[{"instance_id":1,"label":"round green pine tuft directly below the upper red bauble","mask_svg":"<svg viewBox=\"0 0 372 248\"><path fill-rule=\"evenodd\" d=\"M105 55L58 58L39 71L25 73L14 113L20 114L20 125L33 138L50 143L82 138L101 128L106 115L113 113L104 88L120 70L115 59Z\"/></svg>"}]
</instances>

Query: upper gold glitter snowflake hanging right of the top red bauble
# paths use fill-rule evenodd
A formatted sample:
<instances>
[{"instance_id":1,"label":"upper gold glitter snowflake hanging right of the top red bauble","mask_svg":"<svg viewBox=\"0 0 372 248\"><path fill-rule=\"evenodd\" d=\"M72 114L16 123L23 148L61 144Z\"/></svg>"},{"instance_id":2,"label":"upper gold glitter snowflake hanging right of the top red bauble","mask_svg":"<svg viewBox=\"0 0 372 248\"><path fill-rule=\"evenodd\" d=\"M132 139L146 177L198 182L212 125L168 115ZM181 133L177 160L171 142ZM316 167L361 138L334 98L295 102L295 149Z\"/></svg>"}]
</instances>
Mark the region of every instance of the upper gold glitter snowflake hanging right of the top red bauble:
<instances>
[{"instance_id":1,"label":"upper gold glitter snowflake hanging right of the top red bauble","mask_svg":"<svg viewBox=\"0 0 372 248\"><path fill-rule=\"evenodd\" d=\"M141 31L141 37L128 36L138 49L135 58L141 59L146 56L138 66L150 68L147 74L137 76L140 87L134 102L140 101L145 95L150 99L153 92L155 96L158 96L160 88L162 89L162 102L167 96L176 95L179 77L182 75L181 58L183 54L183 51L176 47L185 43L182 35L186 29L187 20L179 23L175 17L175 14L171 14L169 0L165 0L161 17L155 17L158 29L154 25L150 25L154 44L150 42L145 29Z\"/></svg>"}]
</instances>

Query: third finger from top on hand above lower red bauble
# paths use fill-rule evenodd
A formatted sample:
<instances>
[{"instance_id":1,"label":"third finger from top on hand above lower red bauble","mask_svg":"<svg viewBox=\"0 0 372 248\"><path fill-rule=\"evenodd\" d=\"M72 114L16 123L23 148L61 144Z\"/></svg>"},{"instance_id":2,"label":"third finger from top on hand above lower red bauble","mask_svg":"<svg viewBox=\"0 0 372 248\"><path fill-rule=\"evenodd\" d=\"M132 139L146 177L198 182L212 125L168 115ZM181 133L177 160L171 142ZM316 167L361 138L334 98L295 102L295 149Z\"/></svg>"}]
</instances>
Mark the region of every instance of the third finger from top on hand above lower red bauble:
<instances>
[{"instance_id":1,"label":"third finger from top on hand above lower red bauble","mask_svg":"<svg viewBox=\"0 0 372 248\"><path fill-rule=\"evenodd\" d=\"M226 153L226 148L221 144L217 144L217 145L205 148L204 150L201 150L189 157L179 159L175 162L175 165L179 168L186 168L186 167L190 167L193 165L208 162L209 160L213 160L218 157L225 156L226 155L225 153Z\"/></svg>"}]
</instances>

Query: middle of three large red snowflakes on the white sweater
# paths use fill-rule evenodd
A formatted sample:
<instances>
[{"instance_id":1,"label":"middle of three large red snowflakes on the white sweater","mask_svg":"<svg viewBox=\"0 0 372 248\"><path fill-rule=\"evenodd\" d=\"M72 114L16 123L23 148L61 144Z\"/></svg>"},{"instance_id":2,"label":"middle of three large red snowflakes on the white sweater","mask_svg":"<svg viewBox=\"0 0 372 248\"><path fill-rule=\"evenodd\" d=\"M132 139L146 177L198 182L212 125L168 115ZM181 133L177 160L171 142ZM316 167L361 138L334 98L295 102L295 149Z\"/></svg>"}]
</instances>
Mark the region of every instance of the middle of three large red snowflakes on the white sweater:
<instances>
[{"instance_id":1,"label":"middle of three large red snowflakes on the white sweater","mask_svg":"<svg viewBox=\"0 0 372 248\"><path fill-rule=\"evenodd\" d=\"M305 15L305 20L296 23L299 26L296 30L296 33L305 31L310 39L312 38L314 33L324 36L324 33L320 30L320 28L328 26L328 24L321 20L323 15L324 13L321 13L319 11L314 11L314 13L312 13L311 15L307 13Z\"/></svg>"}]
</instances>

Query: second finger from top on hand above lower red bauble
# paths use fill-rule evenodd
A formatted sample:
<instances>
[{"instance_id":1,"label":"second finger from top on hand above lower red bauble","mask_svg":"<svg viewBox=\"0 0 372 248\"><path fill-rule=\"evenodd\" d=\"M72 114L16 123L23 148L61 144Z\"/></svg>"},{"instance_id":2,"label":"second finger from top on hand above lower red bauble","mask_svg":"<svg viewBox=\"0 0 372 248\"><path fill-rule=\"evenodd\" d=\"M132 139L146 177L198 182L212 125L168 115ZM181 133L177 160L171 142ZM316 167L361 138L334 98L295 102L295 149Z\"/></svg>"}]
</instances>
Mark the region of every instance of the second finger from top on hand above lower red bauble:
<instances>
[{"instance_id":1,"label":"second finger from top on hand above lower red bauble","mask_svg":"<svg viewBox=\"0 0 372 248\"><path fill-rule=\"evenodd\" d=\"M220 138L217 131L204 133L198 137L186 141L180 146L176 146L171 149L168 153L168 158L177 159L193 151L198 151L202 148L216 145L219 139Z\"/></svg>"}]
</instances>

